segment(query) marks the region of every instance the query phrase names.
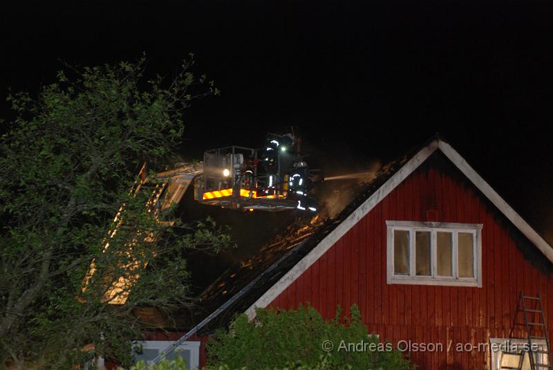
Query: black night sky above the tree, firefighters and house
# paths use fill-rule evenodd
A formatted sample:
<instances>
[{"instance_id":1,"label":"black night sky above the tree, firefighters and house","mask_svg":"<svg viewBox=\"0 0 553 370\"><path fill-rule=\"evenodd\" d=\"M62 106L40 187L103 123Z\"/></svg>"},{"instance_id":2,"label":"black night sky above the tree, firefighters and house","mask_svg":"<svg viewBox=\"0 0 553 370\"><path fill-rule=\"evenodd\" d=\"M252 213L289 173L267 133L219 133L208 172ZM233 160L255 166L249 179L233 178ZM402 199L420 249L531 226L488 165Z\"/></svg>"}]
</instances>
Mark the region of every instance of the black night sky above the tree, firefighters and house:
<instances>
[{"instance_id":1,"label":"black night sky above the tree, firefighters and house","mask_svg":"<svg viewBox=\"0 0 553 370\"><path fill-rule=\"evenodd\" d=\"M551 1L6 1L0 28L3 117L58 59L146 52L171 75L194 52L222 95L190 111L185 156L295 125L339 172L439 131L553 241Z\"/></svg>"}]
</instances>

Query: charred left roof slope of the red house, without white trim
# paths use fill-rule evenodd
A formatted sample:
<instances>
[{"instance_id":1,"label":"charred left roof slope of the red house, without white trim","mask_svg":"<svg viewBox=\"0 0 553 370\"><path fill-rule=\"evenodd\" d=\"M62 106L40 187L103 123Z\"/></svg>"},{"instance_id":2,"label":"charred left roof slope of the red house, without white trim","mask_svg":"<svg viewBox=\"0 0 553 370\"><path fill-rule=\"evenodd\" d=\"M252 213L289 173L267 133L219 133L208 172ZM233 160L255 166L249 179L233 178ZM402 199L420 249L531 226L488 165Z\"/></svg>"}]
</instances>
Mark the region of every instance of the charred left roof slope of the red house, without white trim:
<instances>
[{"instance_id":1,"label":"charred left roof slope of the red house, without white trim","mask_svg":"<svg viewBox=\"0 0 553 370\"><path fill-rule=\"evenodd\" d=\"M246 311L268 288L315 248L319 241L393 176L409 158L410 156L403 156L379 169L362 191L356 194L353 201L336 216L322 219L320 215L315 215L310 221L293 223L270 243L265 244L256 255L228 268L200 295L196 311L187 315L187 320L177 322L177 326L185 330L190 329L225 303L227 306L199 329L198 334L207 335L227 326L235 315ZM240 295L239 298L228 304L236 295Z\"/></svg>"}]
</instances>

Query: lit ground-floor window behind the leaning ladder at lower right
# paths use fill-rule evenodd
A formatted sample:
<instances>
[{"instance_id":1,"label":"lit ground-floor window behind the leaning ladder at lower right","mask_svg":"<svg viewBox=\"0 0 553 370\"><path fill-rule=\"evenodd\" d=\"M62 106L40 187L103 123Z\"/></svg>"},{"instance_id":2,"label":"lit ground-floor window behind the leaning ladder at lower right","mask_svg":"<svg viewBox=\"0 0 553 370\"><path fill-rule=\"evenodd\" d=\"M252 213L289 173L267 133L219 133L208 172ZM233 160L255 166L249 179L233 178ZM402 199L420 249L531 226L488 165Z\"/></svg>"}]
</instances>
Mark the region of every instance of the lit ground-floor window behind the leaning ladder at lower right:
<instances>
[{"instance_id":1,"label":"lit ground-floor window behind the leaning ladder at lower right","mask_svg":"<svg viewBox=\"0 0 553 370\"><path fill-rule=\"evenodd\" d=\"M527 339L489 338L491 370L521 369L532 370L530 367L529 344ZM534 351L545 351L545 340L532 340ZM534 353L534 363L547 364L547 355ZM543 367L545 369L545 367Z\"/></svg>"}]
</instances>

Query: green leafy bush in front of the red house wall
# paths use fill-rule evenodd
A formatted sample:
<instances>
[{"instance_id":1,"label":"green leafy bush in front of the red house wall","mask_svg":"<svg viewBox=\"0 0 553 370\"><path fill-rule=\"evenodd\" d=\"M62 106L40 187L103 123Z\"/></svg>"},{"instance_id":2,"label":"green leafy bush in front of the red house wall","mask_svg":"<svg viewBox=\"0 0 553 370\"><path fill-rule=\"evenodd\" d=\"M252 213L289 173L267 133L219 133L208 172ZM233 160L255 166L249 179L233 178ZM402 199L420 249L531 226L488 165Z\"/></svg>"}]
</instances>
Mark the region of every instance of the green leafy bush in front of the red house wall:
<instances>
[{"instance_id":1,"label":"green leafy bush in front of the red house wall","mask_svg":"<svg viewBox=\"0 0 553 370\"><path fill-rule=\"evenodd\" d=\"M209 369L412 368L401 353L377 350L378 340L368 335L357 306L350 308L350 317L341 316L338 309L335 319L326 322L310 306L292 311L258 309L252 321L240 315L229 331L219 331L216 340L208 343ZM323 346L328 341L333 349L326 352ZM373 343L375 351L346 351L339 347L342 342Z\"/></svg>"}]
</instances>

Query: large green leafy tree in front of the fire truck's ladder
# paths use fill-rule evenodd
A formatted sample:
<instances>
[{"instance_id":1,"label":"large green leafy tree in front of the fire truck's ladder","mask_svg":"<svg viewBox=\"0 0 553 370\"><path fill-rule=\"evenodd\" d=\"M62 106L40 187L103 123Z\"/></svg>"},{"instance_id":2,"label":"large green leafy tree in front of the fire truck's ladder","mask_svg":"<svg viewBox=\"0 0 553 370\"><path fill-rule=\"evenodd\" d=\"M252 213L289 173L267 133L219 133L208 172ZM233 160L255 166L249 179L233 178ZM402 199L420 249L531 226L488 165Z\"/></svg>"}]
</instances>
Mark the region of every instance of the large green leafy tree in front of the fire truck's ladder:
<instances>
[{"instance_id":1,"label":"large green leafy tree in front of the fire truck's ladder","mask_svg":"<svg viewBox=\"0 0 553 370\"><path fill-rule=\"evenodd\" d=\"M153 190L129 191L144 161L165 168L190 102L218 93L191 73L193 55L168 82L144 81L144 62L66 68L38 98L8 97L17 118L0 140L0 367L71 369L95 353L128 362L149 327L135 309L189 305L185 251L228 245L209 220L167 227L144 206ZM113 290L118 281L132 284Z\"/></svg>"}]
</instances>

